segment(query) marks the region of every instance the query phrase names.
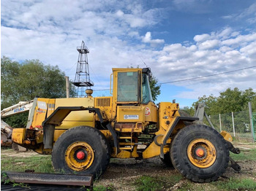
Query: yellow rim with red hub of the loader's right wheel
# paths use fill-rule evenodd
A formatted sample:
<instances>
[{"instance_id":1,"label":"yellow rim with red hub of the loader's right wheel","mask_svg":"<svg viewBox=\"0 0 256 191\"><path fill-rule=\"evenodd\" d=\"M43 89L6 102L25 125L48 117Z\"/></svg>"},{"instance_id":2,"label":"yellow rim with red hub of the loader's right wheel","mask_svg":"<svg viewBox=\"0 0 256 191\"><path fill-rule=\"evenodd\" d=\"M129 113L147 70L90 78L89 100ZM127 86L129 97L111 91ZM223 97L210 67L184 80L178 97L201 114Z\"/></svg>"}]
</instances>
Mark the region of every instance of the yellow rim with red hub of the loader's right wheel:
<instances>
[{"instance_id":1,"label":"yellow rim with red hub of the loader's right wheel","mask_svg":"<svg viewBox=\"0 0 256 191\"><path fill-rule=\"evenodd\" d=\"M187 156L193 165L199 168L208 168L215 162L217 152L211 141L195 139L187 147Z\"/></svg>"}]
</instances>

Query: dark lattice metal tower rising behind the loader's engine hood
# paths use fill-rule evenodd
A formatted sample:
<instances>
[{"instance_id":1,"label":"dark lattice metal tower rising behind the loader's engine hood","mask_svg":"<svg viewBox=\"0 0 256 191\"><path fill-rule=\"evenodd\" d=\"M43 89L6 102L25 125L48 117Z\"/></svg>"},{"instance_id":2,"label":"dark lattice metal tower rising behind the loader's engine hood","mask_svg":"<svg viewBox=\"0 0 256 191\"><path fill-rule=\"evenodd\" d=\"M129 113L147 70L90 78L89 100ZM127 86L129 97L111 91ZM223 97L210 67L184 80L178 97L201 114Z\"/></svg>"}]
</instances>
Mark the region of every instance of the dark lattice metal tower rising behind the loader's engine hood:
<instances>
[{"instance_id":1,"label":"dark lattice metal tower rising behind the loader's engine hood","mask_svg":"<svg viewBox=\"0 0 256 191\"><path fill-rule=\"evenodd\" d=\"M75 79L72 81L72 84L77 87L78 97L81 98L86 96L86 89L91 89L91 86L94 86L94 82L91 82L89 74L89 64L87 58L89 49L82 41L81 46L77 47L77 50L79 52L78 65L77 71L75 72Z\"/></svg>"}]
</instances>

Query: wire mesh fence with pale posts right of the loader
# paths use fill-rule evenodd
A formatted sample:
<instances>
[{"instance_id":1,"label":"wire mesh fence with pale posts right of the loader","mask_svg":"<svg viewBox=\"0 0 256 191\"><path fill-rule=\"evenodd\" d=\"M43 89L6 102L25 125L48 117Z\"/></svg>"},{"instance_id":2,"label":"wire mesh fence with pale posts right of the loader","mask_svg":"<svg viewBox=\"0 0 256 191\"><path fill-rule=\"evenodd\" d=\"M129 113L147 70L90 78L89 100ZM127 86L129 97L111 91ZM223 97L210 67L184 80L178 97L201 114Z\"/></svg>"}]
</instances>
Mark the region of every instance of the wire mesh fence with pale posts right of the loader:
<instances>
[{"instance_id":1,"label":"wire mesh fence with pale posts right of the loader","mask_svg":"<svg viewBox=\"0 0 256 191\"><path fill-rule=\"evenodd\" d=\"M227 131L238 141L251 142L255 139L256 135L256 112L253 113L252 126L248 111L230 112L226 114L217 114L209 116L214 128L219 132L222 130ZM203 121L208 125L208 121Z\"/></svg>"}]
</instances>

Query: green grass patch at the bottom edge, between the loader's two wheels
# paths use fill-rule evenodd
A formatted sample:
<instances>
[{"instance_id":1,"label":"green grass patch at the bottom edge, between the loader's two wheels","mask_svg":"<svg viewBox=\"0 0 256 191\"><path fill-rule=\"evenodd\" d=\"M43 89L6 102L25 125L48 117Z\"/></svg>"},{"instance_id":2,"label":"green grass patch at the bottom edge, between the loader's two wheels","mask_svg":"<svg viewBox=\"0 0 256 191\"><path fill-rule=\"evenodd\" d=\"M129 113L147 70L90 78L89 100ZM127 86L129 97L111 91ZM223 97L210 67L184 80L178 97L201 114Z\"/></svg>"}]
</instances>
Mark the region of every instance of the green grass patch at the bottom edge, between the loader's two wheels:
<instances>
[{"instance_id":1,"label":"green grass patch at the bottom edge, between the loader's two wheels","mask_svg":"<svg viewBox=\"0 0 256 191\"><path fill-rule=\"evenodd\" d=\"M160 191L173 187L174 184L182 179L181 175L173 176L140 176L134 184L138 191Z\"/></svg>"}]
</instances>

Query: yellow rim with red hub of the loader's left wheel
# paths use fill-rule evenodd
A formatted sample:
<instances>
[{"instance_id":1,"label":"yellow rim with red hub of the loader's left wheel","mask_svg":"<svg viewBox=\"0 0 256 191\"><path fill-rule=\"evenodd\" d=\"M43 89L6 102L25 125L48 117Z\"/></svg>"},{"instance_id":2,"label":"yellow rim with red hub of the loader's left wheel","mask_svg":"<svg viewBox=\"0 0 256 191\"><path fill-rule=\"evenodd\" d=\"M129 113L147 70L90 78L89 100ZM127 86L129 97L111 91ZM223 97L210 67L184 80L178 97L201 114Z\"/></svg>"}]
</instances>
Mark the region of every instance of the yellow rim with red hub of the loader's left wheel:
<instances>
[{"instance_id":1,"label":"yellow rim with red hub of the loader's left wheel","mask_svg":"<svg viewBox=\"0 0 256 191\"><path fill-rule=\"evenodd\" d=\"M67 148L65 160L72 170L85 171L94 161L94 150L86 142L75 142Z\"/></svg>"}]
</instances>

